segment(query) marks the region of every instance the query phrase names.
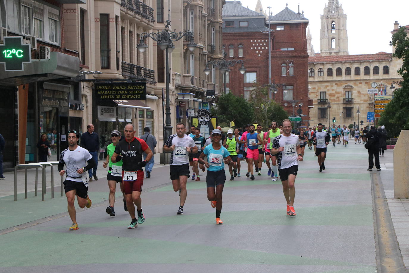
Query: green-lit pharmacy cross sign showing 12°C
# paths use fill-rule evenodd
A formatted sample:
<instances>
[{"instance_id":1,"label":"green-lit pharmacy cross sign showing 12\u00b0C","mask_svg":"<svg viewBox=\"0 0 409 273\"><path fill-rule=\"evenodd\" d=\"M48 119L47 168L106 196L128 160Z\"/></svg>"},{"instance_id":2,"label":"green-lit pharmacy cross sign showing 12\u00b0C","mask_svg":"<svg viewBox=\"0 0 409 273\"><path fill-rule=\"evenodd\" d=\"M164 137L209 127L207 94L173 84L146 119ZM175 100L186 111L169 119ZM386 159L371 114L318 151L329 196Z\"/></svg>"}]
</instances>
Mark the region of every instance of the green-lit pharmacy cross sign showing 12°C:
<instances>
[{"instance_id":1,"label":"green-lit pharmacy cross sign showing 12\u00b0C","mask_svg":"<svg viewBox=\"0 0 409 273\"><path fill-rule=\"evenodd\" d=\"M4 37L0 45L0 63L4 63L4 71L22 71L23 63L31 63L31 46L22 42L22 37Z\"/></svg>"}]
</instances>

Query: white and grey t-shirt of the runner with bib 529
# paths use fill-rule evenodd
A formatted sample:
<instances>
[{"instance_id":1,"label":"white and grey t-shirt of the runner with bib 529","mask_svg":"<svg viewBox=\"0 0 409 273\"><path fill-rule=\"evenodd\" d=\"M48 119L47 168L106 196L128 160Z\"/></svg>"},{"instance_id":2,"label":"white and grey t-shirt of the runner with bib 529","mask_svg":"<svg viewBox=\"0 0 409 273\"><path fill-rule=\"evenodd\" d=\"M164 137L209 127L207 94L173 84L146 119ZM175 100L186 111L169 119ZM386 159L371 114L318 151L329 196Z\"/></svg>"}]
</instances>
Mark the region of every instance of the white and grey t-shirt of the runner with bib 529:
<instances>
[{"instance_id":1,"label":"white and grey t-shirt of the runner with bib 529","mask_svg":"<svg viewBox=\"0 0 409 273\"><path fill-rule=\"evenodd\" d=\"M186 147L196 147L193 138L186 134L182 138L177 134L170 135L165 145L168 147L175 145L175 150L171 154L171 165L189 164L189 153Z\"/></svg>"}]
</instances>

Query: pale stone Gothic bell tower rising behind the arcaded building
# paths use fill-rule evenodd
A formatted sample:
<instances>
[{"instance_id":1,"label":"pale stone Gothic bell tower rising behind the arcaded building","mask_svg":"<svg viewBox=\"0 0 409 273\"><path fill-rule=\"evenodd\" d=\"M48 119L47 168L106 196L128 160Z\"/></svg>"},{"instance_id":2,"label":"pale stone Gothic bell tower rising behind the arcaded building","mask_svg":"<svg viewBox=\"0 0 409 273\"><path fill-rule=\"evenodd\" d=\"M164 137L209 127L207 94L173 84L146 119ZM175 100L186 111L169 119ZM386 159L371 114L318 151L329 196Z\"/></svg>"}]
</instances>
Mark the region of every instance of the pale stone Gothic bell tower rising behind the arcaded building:
<instances>
[{"instance_id":1,"label":"pale stone Gothic bell tower rising behind the arcaded building","mask_svg":"<svg viewBox=\"0 0 409 273\"><path fill-rule=\"evenodd\" d=\"M321 15L321 56L348 55L346 14L338 0L328 0Z\"/></svg>"}]
</instances>

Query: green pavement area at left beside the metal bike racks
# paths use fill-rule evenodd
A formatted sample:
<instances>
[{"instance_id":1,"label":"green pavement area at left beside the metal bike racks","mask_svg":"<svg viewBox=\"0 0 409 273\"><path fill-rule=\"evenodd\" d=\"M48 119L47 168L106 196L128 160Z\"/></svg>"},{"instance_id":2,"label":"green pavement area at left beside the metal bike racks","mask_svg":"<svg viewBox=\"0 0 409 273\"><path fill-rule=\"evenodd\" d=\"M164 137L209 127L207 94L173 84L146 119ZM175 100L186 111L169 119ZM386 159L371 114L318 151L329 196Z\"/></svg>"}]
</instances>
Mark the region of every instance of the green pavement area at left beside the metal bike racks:
<instances>
[{"instance_id":1,"label":"green pavement area at left beside the metal bike racks","mask_svg":"<svg viewBox=\"0 0 409 273\"><path fill-rule=\"evenodd\" d=\"M14 195L1 197L0 230L67 212L65 195L61 196L61 193L54 192L54 198L51 199L51 192L49 190L48 192L44 201L41 201L41 192L38 192L38 196L34 196L34 192L28 192L27 199L24 199L24 193L17 194L17 201L14 201ZM108 200L108 192L88 192L88 194L94 204ZM122 200L121 194L118 194L117 200ZM76 201L75 208L79 208Z\"/></svg>"}]
</instances>

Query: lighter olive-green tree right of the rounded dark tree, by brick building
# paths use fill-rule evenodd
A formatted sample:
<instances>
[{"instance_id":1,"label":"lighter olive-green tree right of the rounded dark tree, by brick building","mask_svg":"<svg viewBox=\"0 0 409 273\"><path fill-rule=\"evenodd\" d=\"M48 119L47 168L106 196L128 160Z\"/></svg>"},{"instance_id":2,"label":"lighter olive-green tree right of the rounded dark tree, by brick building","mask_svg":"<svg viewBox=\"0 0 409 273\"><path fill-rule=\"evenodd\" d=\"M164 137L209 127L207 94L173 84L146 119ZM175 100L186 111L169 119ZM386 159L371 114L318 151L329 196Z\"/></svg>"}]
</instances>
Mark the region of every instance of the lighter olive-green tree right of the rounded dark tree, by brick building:
<instances>
[{"instance_id":1,"label":"lighter olive-green tree right of the rounded dark tree, by brick building","mask_svg":"<svg viewBox=\"0 0 409 273\"><path fill-rule=\"evenodd\" d=\"M280 104L268 99L268 91L268 86L255 86L249 99L249 104L254 109L254 123L263 125L264 129L267 129L273 120L281 123L288 118L287 111Z\"/></svg>"}]
</instances>

